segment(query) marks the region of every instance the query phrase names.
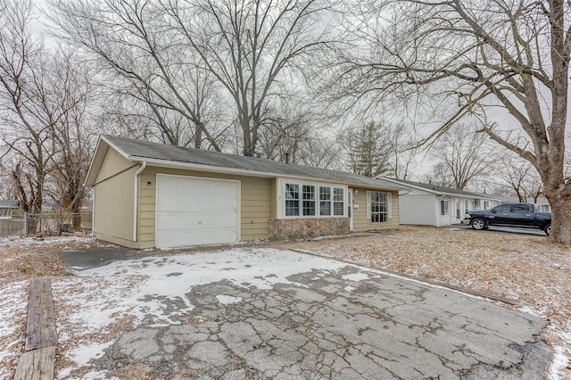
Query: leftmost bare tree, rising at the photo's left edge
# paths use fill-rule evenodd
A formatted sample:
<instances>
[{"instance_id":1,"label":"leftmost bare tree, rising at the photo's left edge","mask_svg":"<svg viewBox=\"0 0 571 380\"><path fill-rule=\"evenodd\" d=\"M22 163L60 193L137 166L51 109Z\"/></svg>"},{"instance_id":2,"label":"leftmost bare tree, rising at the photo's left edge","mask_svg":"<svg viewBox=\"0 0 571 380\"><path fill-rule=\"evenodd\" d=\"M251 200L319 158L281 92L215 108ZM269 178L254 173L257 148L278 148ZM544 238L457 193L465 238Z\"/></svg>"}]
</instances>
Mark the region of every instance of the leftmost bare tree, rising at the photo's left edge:
<instances>
[{"instance_id":1,"label":"leftmost bare tree, rising at the photo's left edge","mask_svg":"<svg viewBox=\"0 0 571 380\"><path fill-rule=\"evenodd\" d=\"M50 115L44 113L41 91L42 48L27 30L33 17L29 1L2 0L0 10L0 116L6 127L2 138L12 153L10 175L21 209L36 214L42 210L53 154L46 123ZM28 227L35 232L36 220Z\"/></svg>"}]
</instances>

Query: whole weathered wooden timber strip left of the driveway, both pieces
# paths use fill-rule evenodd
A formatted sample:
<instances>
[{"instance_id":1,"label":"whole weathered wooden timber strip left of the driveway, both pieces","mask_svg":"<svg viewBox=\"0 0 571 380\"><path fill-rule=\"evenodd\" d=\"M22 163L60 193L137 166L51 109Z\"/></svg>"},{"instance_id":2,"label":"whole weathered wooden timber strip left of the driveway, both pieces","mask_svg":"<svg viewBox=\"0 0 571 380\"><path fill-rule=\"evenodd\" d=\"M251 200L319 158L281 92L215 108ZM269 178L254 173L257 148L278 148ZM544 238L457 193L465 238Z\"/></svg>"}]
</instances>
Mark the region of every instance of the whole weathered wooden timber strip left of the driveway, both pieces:
<instances>
[{"instance_id":1,"label":"whole weathered wooden timber strip left of the driveway, both pieces","mask_svg":"<svg viewBox=\"0 0 571 380\"><path fill-rule=\"evenodd\" d=\"M29 284L28 322L24 352L18 359L14 380L54 379L55 345L54 300L49 278L34 278Z\"/></svg>"}]
</instances>

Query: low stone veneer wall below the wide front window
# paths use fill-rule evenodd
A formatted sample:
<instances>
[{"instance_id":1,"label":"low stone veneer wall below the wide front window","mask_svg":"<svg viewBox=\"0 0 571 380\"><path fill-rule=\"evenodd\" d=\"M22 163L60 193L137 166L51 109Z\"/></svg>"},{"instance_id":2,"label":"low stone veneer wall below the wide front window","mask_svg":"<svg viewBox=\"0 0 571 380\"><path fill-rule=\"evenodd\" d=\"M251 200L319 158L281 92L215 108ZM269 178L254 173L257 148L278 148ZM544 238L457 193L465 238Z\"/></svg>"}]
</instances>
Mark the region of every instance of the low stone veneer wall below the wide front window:
<instances>
[{"instance_id":1,"label":"low stone veneer wall below the wide front window","mask_svg":"<svg viewBox=\"0 0 571 380\"><path fill-rule=\"evenodd\" d=\"M269 238L274 240L311 239L349 232L349 218L269 219Z\"/></svg>"}]
</instances>

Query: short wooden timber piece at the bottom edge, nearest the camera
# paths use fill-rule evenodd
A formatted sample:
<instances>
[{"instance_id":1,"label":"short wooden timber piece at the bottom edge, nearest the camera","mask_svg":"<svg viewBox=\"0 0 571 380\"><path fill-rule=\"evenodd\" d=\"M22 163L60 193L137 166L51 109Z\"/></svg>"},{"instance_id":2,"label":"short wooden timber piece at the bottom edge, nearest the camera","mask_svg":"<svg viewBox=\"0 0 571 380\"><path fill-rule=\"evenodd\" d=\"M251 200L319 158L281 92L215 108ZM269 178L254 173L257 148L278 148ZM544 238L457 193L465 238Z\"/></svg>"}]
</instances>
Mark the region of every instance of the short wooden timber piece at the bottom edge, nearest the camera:
<instances>
[{"instance_id":1,"label":"short wooden timber piece at the bottom edge, nearest the camera","mask_svg":"<svg viewBox=\"0 0 571 380\"><path fill-rule=\"evenodd\" d=\"M18 360L14 380L52 380L55 347L24 352Z\"/></svg>"}]
</instances>

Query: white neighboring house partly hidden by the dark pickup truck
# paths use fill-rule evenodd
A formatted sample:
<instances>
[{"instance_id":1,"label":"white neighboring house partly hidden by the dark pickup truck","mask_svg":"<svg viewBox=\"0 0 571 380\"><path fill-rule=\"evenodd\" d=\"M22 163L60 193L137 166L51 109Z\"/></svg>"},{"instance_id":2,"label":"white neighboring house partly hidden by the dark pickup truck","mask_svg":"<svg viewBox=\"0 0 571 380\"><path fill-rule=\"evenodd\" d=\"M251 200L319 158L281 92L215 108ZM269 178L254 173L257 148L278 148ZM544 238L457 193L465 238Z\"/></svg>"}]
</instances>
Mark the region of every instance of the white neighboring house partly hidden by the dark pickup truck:
<instances>
[{"instance_id":1,"label":"white neighboring house partly hidden by the dark pickup truck","mask_svg":"<svg viewBox=\"0 0 571 380\"><path fill-rule=\"evenodd\" d=\"M479 194L451 187L422 184L395 178L379 178L396 186L404 186L400 193L399 219L401 224L450 226L462 223L469 210L487 210L502 201L490 194Z\"/></svg>"}]
</instances>

